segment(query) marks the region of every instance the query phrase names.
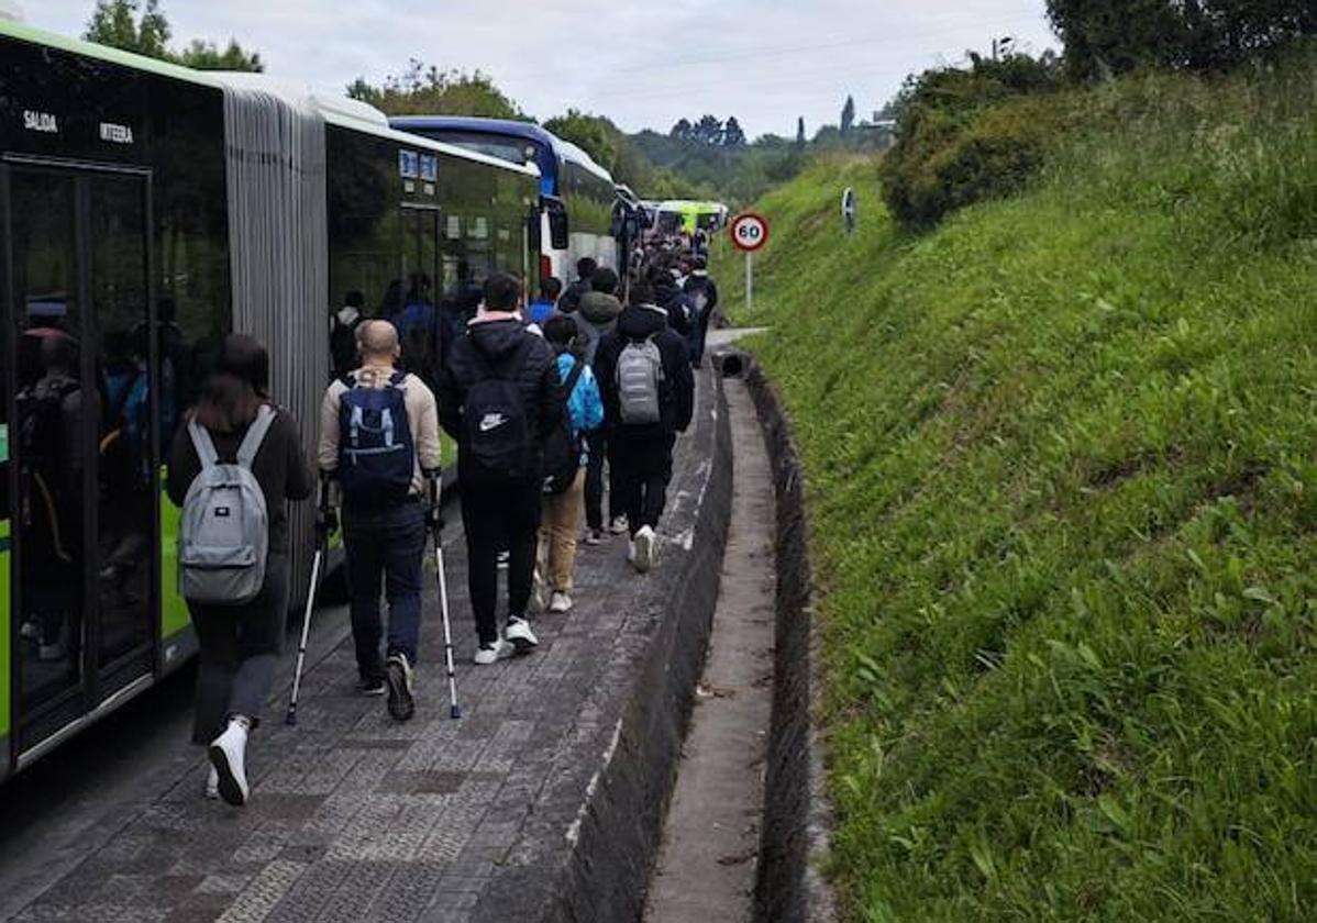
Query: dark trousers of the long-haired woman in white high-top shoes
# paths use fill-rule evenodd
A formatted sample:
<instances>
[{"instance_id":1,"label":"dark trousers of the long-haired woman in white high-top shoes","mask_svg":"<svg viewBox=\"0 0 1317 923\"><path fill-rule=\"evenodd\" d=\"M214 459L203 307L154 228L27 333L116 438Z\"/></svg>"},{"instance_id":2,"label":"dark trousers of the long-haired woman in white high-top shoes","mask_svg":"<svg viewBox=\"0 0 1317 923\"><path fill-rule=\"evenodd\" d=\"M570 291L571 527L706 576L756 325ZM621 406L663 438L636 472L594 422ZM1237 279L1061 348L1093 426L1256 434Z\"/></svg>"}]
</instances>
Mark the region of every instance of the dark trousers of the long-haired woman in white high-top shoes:
<instances>
[{"instance_id":1,"label":"dark trousers of the long-haired woman in white high-top shoes","mask_svg":"<svg viewBox=\"0 0 1317 923\"><path fill-rule=\"evenodd\" d=\"M204 745L233 715L250 718L255 727L265 711L288 619L287 553L270 554L261 593L245 606L187 608L202 648L192 743Z\"/></svg>"}]
</instances>

